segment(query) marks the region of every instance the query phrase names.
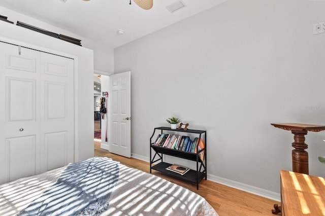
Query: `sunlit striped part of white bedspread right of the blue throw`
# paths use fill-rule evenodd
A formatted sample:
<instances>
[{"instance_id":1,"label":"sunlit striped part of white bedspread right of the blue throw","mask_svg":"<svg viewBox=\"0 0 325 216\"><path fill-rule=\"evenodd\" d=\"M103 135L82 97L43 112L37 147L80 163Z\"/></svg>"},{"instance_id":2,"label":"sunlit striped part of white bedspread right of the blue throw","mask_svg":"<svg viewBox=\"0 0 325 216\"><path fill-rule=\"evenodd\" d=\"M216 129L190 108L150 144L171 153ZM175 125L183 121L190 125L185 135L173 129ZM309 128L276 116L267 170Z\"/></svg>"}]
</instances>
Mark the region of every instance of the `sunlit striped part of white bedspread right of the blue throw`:
<instances>
[{"instance_id":1,"label":"sunlit striped part of white bedspread right of the blue throw","mask_svg":"<svg viewBox=\"0 0 325 216\"><path fill-rule=\"evenodd\" d=\"M218 215L196 193L120 164L120 179L103 215Z\"/></svg>"}]
</instances>

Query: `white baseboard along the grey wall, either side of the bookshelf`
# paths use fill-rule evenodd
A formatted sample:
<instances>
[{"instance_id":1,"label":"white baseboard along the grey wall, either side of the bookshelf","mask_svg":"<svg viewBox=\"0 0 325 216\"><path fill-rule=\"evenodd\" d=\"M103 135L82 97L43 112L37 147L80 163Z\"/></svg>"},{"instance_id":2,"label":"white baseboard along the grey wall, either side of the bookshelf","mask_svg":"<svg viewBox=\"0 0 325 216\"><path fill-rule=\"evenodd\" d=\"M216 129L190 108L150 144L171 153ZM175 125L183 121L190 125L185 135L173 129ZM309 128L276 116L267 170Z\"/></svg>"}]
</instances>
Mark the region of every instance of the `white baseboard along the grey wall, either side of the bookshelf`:
<instances>
[{"instance_id":1,"label":"white baseboard along the grey wall, either side of the bookshelf","mask_svg":"<svg viewBox=\"0 0 325 216\"><path fill-rule=\"evenodd\" d=\"M137 155L137 154L132 153L131 157L139 159L139 160L143 160L143 161L146 161L146 162L150 162L148 157L143 157L142 155ZM236 188L238 190L245 191L245 192L248 192L248 193L251 193L251 194L255 194L257 196L265 197L265 198L268 198L268 199L272 199L272 200L275 200L277 202L281 201L281 195L279 193L268 191L268 190L265 190L265 189L262 189L262 188L256 188L254 186L246 185L246 184L243 184L243 183L240 183L240 182L235 182L235 181L232 181L230 179L226 179L226 178L219 177L219 176L216 176L216 175L211 175L209 173L208 173L207 179L209 181L211 181L211 182L215 182L215 183L225 185L225 186L228 186L228 187L231 187L231 188Z\"/></svg>"}]
</instances>

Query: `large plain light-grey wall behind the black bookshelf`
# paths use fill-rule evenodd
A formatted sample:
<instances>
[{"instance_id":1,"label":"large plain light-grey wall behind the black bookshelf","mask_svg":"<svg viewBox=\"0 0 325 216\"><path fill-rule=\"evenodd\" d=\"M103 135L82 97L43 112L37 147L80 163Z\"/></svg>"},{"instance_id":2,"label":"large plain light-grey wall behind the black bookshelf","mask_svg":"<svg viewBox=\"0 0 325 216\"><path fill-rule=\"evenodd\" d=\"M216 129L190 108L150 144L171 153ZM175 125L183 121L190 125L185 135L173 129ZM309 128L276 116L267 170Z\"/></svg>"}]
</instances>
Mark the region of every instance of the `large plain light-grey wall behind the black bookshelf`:
<instances>
[{"instance_id":1,"label":"large plain light-grey wall behind the black bookshelf","mask_svg":"<svg viewBox=\"0 0 325 216\"><path fill-rule=\"evenodd\" d=\"M208 176L280 192L293 134L270 123L325 124L325 2L230 0L114 49L132 71L132 152L149 157L171 116L207 130ZM324 176L325 132L309 132L309 170ZM184 163L184 162L182 162ZM185 165L185 164L182 164Z\"/></svg>"}]
</instances>

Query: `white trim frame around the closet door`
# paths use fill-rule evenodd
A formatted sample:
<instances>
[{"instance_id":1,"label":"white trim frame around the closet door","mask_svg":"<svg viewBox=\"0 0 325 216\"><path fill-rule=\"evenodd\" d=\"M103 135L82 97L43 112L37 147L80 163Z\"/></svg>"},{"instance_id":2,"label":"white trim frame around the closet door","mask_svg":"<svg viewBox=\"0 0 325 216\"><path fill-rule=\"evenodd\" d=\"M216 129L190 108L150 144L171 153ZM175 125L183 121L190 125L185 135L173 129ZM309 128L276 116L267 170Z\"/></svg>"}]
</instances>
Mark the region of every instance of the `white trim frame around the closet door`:
<instances>
[{"instance_id":1,"label":"white trim frame around the closet door","mask_svg":"<svg viewBox=\"0 0 325 216\"><path fill-rule=\"evenodd\" d=\"M79 161L78 56L0 36L0 43L2 42L74 60L74 162Z\"/></svg>"}]
</instances>

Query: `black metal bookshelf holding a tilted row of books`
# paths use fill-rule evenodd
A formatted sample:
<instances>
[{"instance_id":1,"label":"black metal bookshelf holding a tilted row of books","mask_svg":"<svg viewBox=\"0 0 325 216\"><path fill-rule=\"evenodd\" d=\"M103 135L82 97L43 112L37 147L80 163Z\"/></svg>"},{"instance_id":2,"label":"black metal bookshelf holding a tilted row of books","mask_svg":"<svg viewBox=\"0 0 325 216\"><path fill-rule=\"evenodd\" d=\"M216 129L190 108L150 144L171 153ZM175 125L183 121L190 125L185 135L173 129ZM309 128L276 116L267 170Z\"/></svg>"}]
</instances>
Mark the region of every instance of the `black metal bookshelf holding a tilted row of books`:
<instances>
[{"instance_id":1,"label":"black metal bookshelf holding a tilted row of books","mask_svg":"<svg viewBox=\"0 0 325 216\"><path fill-rule=\"evenodd\" d=\"M157 131L160 131L160 134L163 134L164 131L171 131L171 133L177 132L177 133L194 133L198 135L198 138L203 138L205 143L205 148L201 149L199 151L198 146L196 153L191 152L185 152L180 151L176 149L170 149L166 147L160 147L160 146L153 146L153 142L155 140L152 140L152 138L155 138L154 135ZM154 155L152 157L152 150L154 152ZM204 151L203 160L200 158L200 153ZM175 178L179 178L185 181L189 181L192 183L197 184L197 190L199 190L199 183L202 181L203 178L207 179L207 131L205 130L183 130L183 129L171 129L169 127L156 127L154 128L154 131L150 137L150 173L151 169L157 170L159 172L165 173L167 175L170 175ZM173 157L178 157L190 161L196 161L197 163L197 169L193 170L190 169L185 174L181 175L179 173L167 170L166 168L171 166L172 164L164 162L163 161L163 155L169 155ZM200 167L199 167L200 166Z\"/></svg>"}]
</instances>

